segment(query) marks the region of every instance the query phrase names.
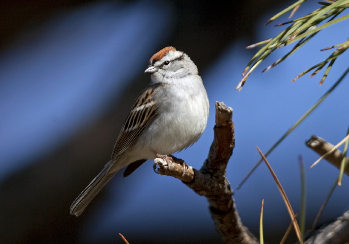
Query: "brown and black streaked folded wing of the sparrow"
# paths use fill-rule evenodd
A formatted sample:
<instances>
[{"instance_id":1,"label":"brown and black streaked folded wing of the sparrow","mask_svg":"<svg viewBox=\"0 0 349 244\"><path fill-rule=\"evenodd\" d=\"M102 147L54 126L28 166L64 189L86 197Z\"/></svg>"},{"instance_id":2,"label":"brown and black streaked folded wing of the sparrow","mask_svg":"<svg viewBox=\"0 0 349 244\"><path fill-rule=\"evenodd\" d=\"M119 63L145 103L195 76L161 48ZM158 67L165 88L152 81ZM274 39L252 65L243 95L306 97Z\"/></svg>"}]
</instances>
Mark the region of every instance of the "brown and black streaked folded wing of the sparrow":
<instances>
[{"instance_id":1,"label":"brown and black streaked folded wing of the sparrow","mask_svg":"<svg viewBox=\"0 0 349 244\"><path fill-rule=\"evenodd\" d=\"M110 168L157 115L157 106L153 99L153 93L159 86L160 84L148 86L135 100L115 142Z\"/></svg>"}]
</instances>

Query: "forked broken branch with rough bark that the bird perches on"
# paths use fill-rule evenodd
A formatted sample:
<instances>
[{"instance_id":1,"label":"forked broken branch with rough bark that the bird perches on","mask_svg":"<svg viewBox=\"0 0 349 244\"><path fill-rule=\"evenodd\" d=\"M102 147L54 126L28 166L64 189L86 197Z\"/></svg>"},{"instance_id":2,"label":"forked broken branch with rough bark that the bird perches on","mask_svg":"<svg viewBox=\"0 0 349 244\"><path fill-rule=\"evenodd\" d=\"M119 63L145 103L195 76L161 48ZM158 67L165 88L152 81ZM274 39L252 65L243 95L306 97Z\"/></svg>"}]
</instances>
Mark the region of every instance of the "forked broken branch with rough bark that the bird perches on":
<instances>
[{"instance_id":1,"label":"forked broken branch with rough bark that the bird perches on","mask_svg":"<svg viewBox=\"0 0 349 244\"><path fill-rule=\"evenodd\" d=\"M216 229L227 244L257 244L257 239L242 224L236 210L233 190L226 178L226 166L235 145L233 110L222 102L216 102L214 139L208 157L200 170L188 166L173 156L160 156L154 170L162 175L180 179L185 185L209 203L209 210Z\"/></svg>"}]
</instances>

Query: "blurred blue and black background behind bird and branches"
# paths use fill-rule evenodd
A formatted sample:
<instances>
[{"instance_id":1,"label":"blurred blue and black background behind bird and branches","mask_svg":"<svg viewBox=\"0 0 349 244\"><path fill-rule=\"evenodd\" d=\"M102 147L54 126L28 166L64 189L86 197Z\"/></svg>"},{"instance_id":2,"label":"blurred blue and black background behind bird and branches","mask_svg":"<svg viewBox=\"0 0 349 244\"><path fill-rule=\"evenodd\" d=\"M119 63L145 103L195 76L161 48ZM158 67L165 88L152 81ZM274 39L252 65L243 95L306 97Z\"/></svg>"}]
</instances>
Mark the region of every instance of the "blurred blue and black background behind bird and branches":
<instances>
[{"instance_id":1,"label":"blurred blue and black background behind bird and branches","mask_svg":"<svg viewBox=\"0 0 349 244\"><path fill-rule=\"evenodd\" d=\"M235 91L256 51L245 46L275 36L283 27L264 23L292 3L256 2L3 3L7 25L0 29L1 239L122 243L122 233L130 243L221 243L206 199L177 179L155 174L151 161L127 178L117 175L80 218L69 215L69 206L109 160L133 100L149 83L149 75L143 74L147 62L165 46L183 50L195 62L211 106L202 137L175 156L201 167L213 138L214 102L223 101L234 110L236 145L227 168L234 189L259 160L255 146L266 152L333 85L347 68L348 55L337 60L322 86L321 72L312 79L306 75L290 81L332 52L320 49L346 40L348 21L325 29L300 52L262 74L291 47L277 50L241 92ZM24 10L29 6L31 14ZM295 18L317 7L306 3ZM35 11L40 14L34 16ZM283 21L286 16L275 24ZM312 134L333 144L345 136L348 89L346 78L268 157L299 212L297 157L303 156L308 228L339 170L326 161L308 170L318 155L304 142ZM344 177L321 221L348 210L348 183ZM264 164L234 198L242 222L256 236L264 199L265 240L281 240L290 218Z\"/></svg>"}]
</instances>

